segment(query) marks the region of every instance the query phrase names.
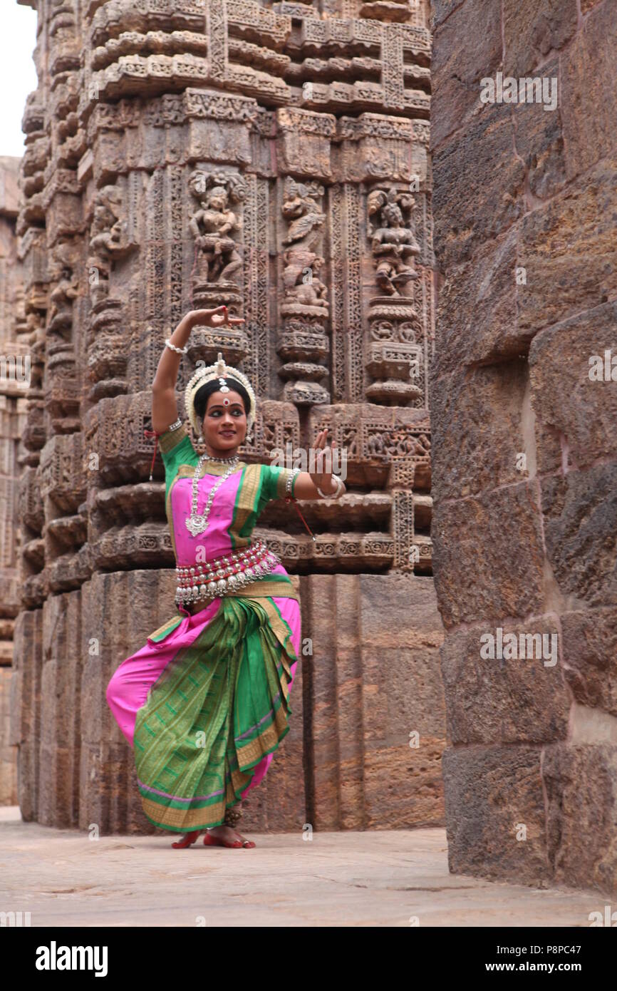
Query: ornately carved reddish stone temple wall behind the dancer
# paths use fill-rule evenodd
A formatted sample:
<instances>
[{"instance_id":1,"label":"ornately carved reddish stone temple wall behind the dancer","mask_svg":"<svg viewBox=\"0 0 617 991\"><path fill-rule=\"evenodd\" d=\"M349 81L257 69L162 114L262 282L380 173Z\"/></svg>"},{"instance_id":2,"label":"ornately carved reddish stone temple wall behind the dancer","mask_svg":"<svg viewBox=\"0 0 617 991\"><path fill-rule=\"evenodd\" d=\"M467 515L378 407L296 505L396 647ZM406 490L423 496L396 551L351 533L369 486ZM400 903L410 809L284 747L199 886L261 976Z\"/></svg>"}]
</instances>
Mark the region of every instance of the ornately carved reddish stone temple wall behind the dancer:
<instances>
[{"instance_id":1,"label":"ornately carved reddish stone temple wall behind the dancer","mask_svg":"<svg viewBox=\"0 0 617 991\"><path fill-rule=\"evenodd\" d=\"M25 2L25 0L20 0ZM348 493L271 504L301 594L291 729L247 826L443 824L427 370L426 0L46 0L17 222L33 370L13 742L25 819L152 831L105 688L173 614L150 388L169 329L255 385L243 455L331 428ZM184 413L181 408L181 413ZM194 438L196 440L196 438Z\"/></svg>"}]
</instances>

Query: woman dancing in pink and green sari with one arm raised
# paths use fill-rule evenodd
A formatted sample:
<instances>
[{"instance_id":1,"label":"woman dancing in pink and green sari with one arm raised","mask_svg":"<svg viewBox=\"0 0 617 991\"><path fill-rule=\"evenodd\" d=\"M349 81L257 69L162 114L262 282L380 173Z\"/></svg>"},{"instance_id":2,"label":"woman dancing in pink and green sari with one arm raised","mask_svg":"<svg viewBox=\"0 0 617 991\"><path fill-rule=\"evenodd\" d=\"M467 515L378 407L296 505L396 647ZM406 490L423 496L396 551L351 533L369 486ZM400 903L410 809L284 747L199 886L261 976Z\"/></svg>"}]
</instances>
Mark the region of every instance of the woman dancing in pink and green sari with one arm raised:
<instances>
[{"instance_id":1,"label":"woman dancing in pink and green sari with one arm raised","mask_svg":"<svg viewBox=\"0 0 617 991\"><path fill-rule=\"evenodd\" d=\"M186 387L186 414L205 443L196 454L175 400L180 356L194 326L243 322L226 306L191 310L165 341L153 428L165 468L177 612L107 686L108 705L134 748L144 812L156 826L185 833L176 848L201 830L206 845L255 846L233 827L241 816L233 807L263 780L288 731L300 609L279 559L251 534L271 499L345 492L324 470L332 469L323 463L327 430L315 442L313 473L240 461L255 393L221 355Z\"/></svg>"}]
</instances>

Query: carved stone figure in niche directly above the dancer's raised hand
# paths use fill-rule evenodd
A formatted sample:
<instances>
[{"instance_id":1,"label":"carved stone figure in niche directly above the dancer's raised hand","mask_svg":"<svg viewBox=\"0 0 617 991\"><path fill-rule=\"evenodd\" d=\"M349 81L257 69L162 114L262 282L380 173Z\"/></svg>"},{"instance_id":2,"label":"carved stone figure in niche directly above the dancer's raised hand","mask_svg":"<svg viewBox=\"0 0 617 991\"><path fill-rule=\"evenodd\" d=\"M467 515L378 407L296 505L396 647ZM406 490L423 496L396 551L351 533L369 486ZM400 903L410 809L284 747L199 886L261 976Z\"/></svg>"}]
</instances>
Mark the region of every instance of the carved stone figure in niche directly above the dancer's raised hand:
<instances>
[{"instance_id":1,"label":"carved stone figure in niche directly above the dancer's raised hand","mask_svg":"<svg viewBox=\"0 0 617 991\"><path fill-rule=\"evenodd\" d=\"M246 183L240 175L193 172L191 192L199 200L199 208L191 214L190 231L201 251L208 282L227 281L243 260L239 246L232 237L242 229L242 218L230 209L230 200L239 202L246 196ZM203 198L202 198L203 196Z\"/></svg>"}]
</instances>

